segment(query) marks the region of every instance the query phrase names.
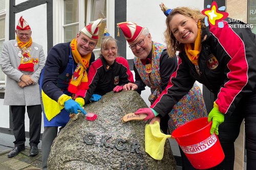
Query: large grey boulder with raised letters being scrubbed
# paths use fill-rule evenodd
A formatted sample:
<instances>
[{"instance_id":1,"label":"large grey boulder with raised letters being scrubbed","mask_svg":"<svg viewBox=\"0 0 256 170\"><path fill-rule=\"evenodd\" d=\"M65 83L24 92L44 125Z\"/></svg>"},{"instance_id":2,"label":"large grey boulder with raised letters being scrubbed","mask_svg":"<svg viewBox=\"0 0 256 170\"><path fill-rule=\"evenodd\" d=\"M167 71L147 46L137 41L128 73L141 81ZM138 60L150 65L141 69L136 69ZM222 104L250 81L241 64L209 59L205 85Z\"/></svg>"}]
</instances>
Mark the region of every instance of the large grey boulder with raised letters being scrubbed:
<instances>
[{"instance_id":1,"label":"large grey boulder with raised letters being scrubbed","mask_svg":"<svg viewBox=\"0 0 256 170\"><path fill-rule=\"evenodd\" d=\"M146 123L123 123L123 115L147 107L136 91L109 92L98 102L86 105L87 112L98 114L90 122L79 114L70 120L55 138L48 159L48 169L176 169L176 162L166 140L162 160L145 153Z\"/></svg>"}]
</instances>

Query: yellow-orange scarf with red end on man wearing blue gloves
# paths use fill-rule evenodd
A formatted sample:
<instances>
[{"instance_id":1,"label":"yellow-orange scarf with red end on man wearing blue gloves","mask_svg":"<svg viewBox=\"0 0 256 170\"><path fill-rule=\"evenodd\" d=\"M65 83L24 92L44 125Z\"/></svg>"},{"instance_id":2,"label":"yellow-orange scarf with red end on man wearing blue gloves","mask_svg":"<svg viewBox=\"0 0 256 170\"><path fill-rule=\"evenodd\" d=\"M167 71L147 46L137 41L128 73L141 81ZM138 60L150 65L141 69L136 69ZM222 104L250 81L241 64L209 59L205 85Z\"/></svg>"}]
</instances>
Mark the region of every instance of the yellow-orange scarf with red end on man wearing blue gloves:
<instances>
[{"instance_id":1,"label":"yellow-orange scarf with red end on man wearing blue gloves","mask_svg":"<svg viewBox=\"0 0 256 170\"><path fill-rule=\"evenodd\" d=\"M76 93L78 89L79 90L89 89L86 69L89 67L89 62L92 54L90 53L87 56L81 57L76 47L77 41L75 38L71 41L70 45L71 45L72 55L75 59L75 62L78 64L70 80L68 91L71 93Z\"/></svg>"}]
</instances>

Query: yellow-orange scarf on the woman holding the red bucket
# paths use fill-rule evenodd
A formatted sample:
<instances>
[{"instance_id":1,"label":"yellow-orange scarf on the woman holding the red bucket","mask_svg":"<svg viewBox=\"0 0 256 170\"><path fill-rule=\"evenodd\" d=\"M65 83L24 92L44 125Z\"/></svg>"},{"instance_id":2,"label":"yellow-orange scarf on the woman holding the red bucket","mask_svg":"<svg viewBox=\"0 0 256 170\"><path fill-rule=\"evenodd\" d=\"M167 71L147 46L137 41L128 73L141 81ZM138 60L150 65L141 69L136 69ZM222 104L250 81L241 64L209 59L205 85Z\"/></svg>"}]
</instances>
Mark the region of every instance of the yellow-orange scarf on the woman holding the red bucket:
<instances>
[{"instance_id":1,"label":"yellow-orange scarf on the woman holding the red bucket","mask_svg":"<svg viewBox=\"0 0 256 170\"><path fill-rule=\"evenodd\" d=\"M196 66L198 66L198 57L200 54L200 48L201 48L201 22L198 21L198 33L197 33L197 38L194 44L193 43L185 44L185 52L187 54L187 57Z\"/></svg>"}]
</instances>

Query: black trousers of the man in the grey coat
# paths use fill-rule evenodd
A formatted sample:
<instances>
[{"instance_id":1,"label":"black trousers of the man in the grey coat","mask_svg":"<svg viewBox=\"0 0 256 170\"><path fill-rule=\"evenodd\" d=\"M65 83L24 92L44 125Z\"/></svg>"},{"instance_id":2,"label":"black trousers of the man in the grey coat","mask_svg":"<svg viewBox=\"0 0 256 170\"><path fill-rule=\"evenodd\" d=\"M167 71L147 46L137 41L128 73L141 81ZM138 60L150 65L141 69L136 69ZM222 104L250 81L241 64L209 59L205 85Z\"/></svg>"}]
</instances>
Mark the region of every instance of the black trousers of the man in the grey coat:
<instances>
[{"instance_id":1,"label":"black trousers of the man in the grey coat","mask_svg":"<svg viewBox=\"0 0 256 170\"><path fill-rule=\"evenodd\" d=\"M15 147L25 146L25 112L26 106L11 106L13 133ZM41 133L41 105L27 106L29 116L29 144L30 146L38 145Z\"/></svg>"}]
</instances>

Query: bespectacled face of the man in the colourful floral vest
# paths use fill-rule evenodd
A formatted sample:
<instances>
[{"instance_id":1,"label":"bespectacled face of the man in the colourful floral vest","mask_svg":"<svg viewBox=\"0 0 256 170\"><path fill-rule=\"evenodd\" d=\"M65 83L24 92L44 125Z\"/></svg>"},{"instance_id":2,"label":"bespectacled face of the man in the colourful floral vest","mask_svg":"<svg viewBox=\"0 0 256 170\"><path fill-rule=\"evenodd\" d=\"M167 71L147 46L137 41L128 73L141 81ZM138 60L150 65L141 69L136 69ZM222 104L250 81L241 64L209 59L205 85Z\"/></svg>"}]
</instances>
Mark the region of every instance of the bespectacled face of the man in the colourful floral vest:
<instances>
[{"instance_id":1,"label":"bespectacled face of the man in the colourful floral vest","mask_svg":"<svg viewBox=\"0 0 256 170\"><path fill-rule=\"evenodd\" d=\"M144 43L143 43L144 41ZM133 54L140 59L146 59L152 50L151 34L140 34L140 36L133 43L129 43ZM134 49L132 46L136 46Z\"/></svg>"}]
</instances>

